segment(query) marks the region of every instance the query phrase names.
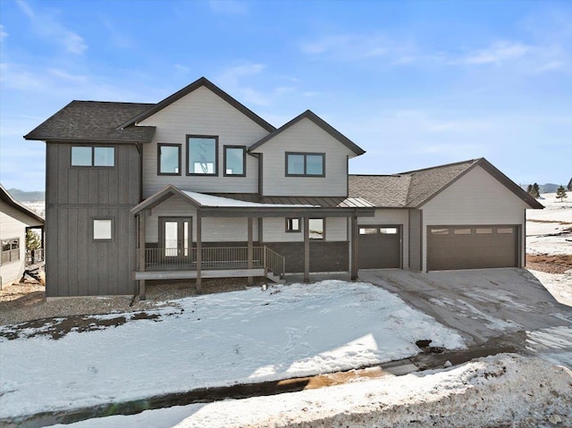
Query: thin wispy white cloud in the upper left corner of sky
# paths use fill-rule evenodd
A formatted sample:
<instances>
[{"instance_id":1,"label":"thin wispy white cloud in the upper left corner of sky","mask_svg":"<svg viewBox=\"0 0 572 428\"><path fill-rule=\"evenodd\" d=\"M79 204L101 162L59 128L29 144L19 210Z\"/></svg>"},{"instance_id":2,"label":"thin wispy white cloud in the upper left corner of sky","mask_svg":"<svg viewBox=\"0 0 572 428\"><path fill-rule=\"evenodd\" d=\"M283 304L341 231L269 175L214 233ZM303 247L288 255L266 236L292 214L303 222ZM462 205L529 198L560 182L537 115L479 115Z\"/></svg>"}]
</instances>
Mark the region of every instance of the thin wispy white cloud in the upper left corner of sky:
<instances>
[{"instance_id":1,"label":"thin wispy white cloud in the upper left corner of sky","mask_svg":"<svg viewBox=\"0 0 572 428\"><path fill-rule=\"evenodd\" d=\"M62 45L68 53L73 55L81 55L88 49L84 38L63 27L60 22L55 21L54 16L48 13L42 15L35 13L24 0L17 0L17 4L20 6L22 13L28 16L32 28L39 36L48 38L55 44Z\"/></svg>"}]
</instances>

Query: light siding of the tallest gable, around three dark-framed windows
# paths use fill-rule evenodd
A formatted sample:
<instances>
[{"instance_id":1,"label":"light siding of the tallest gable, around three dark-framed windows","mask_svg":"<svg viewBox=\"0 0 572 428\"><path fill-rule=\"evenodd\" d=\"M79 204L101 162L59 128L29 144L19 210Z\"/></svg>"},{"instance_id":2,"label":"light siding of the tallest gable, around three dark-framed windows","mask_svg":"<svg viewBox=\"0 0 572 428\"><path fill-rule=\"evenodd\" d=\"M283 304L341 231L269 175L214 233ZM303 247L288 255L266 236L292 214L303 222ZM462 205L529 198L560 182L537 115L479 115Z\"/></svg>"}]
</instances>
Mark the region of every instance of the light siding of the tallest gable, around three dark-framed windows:
<instances>
[{"instance_id":1,"label":"light siding of the tallest gable, around three dark-framed windows","mask_svg":"<svg viewBox=\"0 0 572 428\"><path fill-rule=\"evenodd\" d=\"M143 197L168 184L197 192L256 193L258 160L246 156L246 177L224 177L224 146L250 147L268 131L228 104L208 88L201 87L153 114L142 126L155 126L151 144L143 148ZM218 176L187 175L187 135L218 137ZM181 175L157 174L157 144L181 145Z\"/></svg>"}]
</instances>

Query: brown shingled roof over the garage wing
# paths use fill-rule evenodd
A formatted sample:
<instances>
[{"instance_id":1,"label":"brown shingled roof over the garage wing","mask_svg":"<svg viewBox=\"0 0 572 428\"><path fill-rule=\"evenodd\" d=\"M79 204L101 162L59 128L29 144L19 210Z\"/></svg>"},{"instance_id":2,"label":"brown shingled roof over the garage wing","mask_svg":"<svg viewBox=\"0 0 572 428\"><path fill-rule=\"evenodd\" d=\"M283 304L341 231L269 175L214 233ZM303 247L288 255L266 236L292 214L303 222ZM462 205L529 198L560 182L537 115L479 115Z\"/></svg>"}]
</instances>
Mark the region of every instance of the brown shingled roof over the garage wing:
<instances>
[{"instance_id":1,"label":"brown shingled roof over the garage wing","mask_svg":"<svg viewBox=\"0 0 572 428\"><path fill-rule=\"evenodd\" d=\"M378 208L418 208L476 165L489 172L529 206L543 208L534 197L483 157L395 175L349 175L349 196L363 197Z\"/></svg>"}]
</instances>

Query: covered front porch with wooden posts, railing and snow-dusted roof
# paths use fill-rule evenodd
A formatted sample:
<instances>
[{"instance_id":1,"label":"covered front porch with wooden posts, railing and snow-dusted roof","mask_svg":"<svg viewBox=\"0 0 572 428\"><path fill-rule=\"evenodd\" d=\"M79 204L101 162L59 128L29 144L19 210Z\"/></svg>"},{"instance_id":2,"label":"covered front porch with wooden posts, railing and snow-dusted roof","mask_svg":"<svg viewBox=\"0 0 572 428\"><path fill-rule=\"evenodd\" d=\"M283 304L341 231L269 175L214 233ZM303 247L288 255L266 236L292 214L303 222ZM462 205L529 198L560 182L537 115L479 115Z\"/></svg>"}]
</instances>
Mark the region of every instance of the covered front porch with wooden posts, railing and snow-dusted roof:
<instances>
[{"instance_id":1,"label":"covered front porch with wooden posts, railing and snow-dusted roof","mask_svg":"<svg viewBox=\"0 0 572 428\"><path fill-rule=\"evenodd\" d=\"M187 206L188 214L181 216L184 211L182 207L176 216L159 220L162 226L158 233L163 233L158 239L159 244L147 242L147 226L153 211L172 197ZM195 280L199 292L203 278L247 277L249 284L252 284L254 277L265 277L272 281L283 280L287 272L286 257L265 245L259 230L255 239L255 225L260 227L260 221L268 217L299 217L303 222L303 278L306 282L310 280L310 218L320 216L350 219L349 271L351 279L355 280L358 211L359 215L374 214L373 206L364 203L342 207L304 203L260 203L167 186L131 210L138 218L138 263L133 277L138 281L139 298L145 298L147 280ZM211 223L207 233L206 219ZM219 247L213 242L213 237L209 236L213 233L212 222L220 222L223 225L231 219L242 219L242 222L246 220L246 245L223 244ZM154 219L155 222L157 220Z\"/></svg>"}]
</instances>

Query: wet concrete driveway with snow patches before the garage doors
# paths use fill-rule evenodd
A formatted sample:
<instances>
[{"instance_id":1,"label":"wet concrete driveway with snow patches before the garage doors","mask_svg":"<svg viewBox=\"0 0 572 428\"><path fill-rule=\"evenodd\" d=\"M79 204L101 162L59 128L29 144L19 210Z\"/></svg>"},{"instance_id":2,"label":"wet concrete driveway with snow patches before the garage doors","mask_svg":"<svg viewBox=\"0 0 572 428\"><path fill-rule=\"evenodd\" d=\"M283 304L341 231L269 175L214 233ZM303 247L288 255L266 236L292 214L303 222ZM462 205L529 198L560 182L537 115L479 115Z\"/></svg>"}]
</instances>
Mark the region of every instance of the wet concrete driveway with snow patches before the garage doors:
<instances>
[{"instance_id":1,"label":"wet concrete driveway with snow patches before the garage doors","mask_svg":"<svg viewBox=\"0 0 572 428\"><path fill-rule=\"evenodd\" d=\"M572 365L572 307L560 304L524 269L417 273L360 270L359 279L463 334L467 346L511 345Z\"/></svg>"}]
</instances>

